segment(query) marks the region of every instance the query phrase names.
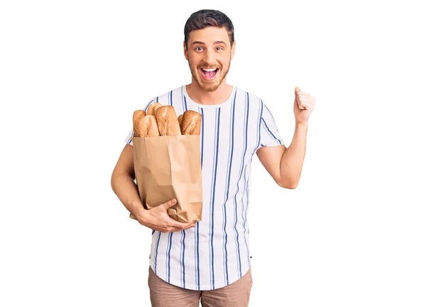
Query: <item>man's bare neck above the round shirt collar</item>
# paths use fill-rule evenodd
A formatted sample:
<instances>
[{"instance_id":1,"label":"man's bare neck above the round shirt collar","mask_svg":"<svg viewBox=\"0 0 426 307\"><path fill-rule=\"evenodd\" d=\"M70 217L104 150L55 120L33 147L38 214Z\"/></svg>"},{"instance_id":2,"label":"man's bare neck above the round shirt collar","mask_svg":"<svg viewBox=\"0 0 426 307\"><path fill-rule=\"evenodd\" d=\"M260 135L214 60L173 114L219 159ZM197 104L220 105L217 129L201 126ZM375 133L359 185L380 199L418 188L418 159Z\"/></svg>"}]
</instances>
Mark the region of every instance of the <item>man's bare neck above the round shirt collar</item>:
<instances>
[{"instance_id":1,"label":"man's bare neck above the round shirt collar","mask_svg":"<svg viewBox=\"0 0 426 307\"><path fill-rule=\"evenodd\" d=\"M203 91L194 78L192 78L191 84L186 85L190 98L197 104L205 105L222 104L229 98L232 89L233 86L226 84L226 79L222 81L216 91Z\"/></svg>"}]
</instances>

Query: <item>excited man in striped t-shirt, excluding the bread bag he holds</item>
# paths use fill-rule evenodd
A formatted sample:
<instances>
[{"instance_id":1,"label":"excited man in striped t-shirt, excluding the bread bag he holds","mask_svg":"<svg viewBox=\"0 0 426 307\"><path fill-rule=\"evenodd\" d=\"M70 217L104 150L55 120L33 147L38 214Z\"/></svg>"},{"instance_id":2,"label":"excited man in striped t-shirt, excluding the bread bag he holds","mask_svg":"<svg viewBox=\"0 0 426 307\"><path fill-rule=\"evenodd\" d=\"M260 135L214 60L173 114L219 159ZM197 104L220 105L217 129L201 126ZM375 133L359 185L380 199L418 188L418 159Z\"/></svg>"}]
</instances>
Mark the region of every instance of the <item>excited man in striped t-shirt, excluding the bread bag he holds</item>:
<instances>
[{"instance_id":1,"label":"excited man in striped t-shirt, excluding the bread bag he holds","mask_svg":"<svg viewBox=\"0 0 426 307\"><path fill-rule=\"evenodd\" d=\"M153 306L248 306L251 292L249 186L256 153L275 182L295 189L305 158L307 119L315 99L295 89L295 134L288 148L261 99L226 84L234 57L234 27L222 12L201 10L185 24L183 43L192 82L154 102L202 114L202 221L179 223L167 208L145 210L133 182L131 133L111 186L139 223L153 229L148 285Z\"/></svg>"}]
</instances>

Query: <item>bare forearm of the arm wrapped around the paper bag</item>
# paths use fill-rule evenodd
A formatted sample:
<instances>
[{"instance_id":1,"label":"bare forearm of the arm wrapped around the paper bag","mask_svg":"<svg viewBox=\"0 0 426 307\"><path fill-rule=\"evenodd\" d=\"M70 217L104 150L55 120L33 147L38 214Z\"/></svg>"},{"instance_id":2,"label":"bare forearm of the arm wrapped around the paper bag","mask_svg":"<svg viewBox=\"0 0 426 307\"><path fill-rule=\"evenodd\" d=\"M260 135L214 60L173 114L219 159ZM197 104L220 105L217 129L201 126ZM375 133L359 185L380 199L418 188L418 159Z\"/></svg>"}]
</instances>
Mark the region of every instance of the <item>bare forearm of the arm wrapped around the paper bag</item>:
<instances>
[{"instance_id":1,"label":"bare forearm of the arm wrapped around the paper bag","mask_svg":"<svg viewBox=\"0 0 426 307\"><path fill-rule=\"evenodd\" d=\"M131 175L113 174L111 177L111 187L127 210L138 218L141 211L145 210L145 208L143 208L138 188L135 182L133 182Z\"/></svg>"}]
</instances>

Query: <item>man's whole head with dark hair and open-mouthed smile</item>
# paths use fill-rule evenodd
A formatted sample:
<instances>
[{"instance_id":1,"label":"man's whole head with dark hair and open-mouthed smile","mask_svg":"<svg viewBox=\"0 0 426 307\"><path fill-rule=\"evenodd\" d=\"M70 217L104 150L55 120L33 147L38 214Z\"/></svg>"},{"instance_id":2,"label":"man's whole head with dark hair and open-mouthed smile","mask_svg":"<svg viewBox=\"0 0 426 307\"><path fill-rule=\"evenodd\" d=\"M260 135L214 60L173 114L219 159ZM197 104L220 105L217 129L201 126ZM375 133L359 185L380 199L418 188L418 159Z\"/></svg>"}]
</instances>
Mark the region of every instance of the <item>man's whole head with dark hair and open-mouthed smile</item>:
<instances>
[{"instance_id":1,"label":"man's whole head with dark hair and open-mouthed smile","mask_svg":"<svg viewBox=\"0 0 426 307\"><path fill-rule=\"evenodd\" d=\"M215 91L234 57L234 26L224 13L200 10L185 23L185 58L193 79L204 91Z\"/></svg>"}]
</instances>

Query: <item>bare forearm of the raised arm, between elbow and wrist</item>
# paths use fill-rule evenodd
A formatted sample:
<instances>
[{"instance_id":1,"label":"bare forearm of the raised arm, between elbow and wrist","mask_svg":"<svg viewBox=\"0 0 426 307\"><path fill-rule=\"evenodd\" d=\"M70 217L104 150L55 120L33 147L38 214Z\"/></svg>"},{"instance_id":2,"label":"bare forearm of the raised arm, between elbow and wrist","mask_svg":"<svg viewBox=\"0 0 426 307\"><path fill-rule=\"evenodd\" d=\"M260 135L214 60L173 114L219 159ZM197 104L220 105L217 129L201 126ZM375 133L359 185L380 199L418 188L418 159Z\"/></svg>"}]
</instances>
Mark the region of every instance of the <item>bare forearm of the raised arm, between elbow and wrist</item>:
<instances>
[{"instance_id":1,"label":"bare forearm of the raised arm, between elbow and wrist","mask_svg":"<svg viewBox=\"0 0 426 307\"><path fill-rule=\"evenodd\" d=\"M296 123L293 140L283 153L280 162L280 176L283 184L295 189L302 174L306 151L307 123Z\"/></svg>"}]
</instances>

